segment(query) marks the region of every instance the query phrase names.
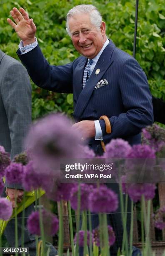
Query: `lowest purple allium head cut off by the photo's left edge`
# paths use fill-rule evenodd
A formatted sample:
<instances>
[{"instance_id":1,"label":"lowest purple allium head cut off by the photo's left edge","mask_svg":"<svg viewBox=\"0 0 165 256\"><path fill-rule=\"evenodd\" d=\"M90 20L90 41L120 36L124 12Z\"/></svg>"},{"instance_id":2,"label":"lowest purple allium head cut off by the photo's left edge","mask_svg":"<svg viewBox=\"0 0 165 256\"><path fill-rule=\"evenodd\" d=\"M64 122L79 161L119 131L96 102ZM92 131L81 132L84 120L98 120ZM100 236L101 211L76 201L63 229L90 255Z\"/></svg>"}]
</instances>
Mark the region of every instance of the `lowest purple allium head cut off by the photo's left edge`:
<instances>
[{"instance_id":1,"label":"lowest purple allium head cut off by the photo's left edge","mask_svg":"<svg viewBox=\"0 0 165 256\"><path fill-rule=\"evenodd\" d=\"M0 198L0 219L9 220L13 213L12 203L6 198Z\"/></svg>"}]
</instances>

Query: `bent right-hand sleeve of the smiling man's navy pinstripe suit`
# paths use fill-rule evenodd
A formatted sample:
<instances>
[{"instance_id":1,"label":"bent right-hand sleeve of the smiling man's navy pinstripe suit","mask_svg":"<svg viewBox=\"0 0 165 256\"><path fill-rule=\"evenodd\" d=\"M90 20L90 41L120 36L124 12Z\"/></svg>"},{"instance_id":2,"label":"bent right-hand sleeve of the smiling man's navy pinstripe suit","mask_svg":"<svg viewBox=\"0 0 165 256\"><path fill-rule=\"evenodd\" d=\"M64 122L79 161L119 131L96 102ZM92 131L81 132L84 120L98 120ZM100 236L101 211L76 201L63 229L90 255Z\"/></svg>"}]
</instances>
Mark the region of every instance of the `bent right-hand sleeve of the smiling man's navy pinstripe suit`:
<instances>
[{"instance_id":1,"label":"bent right-hand sleeve of the smiling man's navy pinstripe suit","mask_svg":"<svg viewBox=\"0 0 165 256\"><path fill-rule=\"evenodd\" d=\"M138 62L131 58L120 67L118 83L125 113L112 116L112 133L105 131L104 120L100 120L103 140L127 138L140 133L141 129L153 123L153 104L145 73Z\"/></svg>"}]
</instances>

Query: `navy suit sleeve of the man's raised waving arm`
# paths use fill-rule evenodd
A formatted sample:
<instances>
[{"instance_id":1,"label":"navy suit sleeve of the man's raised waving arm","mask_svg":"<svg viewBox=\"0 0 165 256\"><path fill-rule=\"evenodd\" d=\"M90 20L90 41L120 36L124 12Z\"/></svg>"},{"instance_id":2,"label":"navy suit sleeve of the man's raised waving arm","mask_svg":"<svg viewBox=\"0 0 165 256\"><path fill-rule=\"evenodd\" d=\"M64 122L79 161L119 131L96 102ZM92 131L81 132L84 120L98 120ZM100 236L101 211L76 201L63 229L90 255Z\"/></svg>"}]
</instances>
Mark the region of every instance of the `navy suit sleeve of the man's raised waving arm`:
<instances>
[{"instance_id":1,"label":"navy suit sleeve of the man's raised waving arm","mask_svg":"<svg viewBox=\"0 0 165 256\"><path fill-rule=\"evenodd\" d=\"M37 45L26 54L17 54L25 65L32 81L39 87L52 92L72 93L73 62L62 65L50 65Z\"/></svg>"}]
</instances>

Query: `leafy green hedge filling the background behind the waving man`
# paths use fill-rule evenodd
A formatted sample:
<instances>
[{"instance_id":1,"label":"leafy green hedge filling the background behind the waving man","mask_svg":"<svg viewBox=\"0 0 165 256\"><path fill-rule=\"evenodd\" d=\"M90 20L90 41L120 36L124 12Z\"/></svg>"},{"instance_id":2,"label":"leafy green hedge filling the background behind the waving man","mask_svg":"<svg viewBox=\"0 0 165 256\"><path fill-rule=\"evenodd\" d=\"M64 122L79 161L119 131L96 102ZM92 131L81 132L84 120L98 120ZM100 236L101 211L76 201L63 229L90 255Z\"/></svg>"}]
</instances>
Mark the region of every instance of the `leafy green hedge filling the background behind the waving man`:
<instances>
[{"instance_id":1,"label":"leafy green hedge filling the background behind the waving man","mask_svg":"<svg viewBox=\"0 0 165 256\"><path fill-rule=\"evenodd\" d=\"M0 0L0 48L18 59L19 39L7 24L10 10L22 6L37 26L37 39L50 64L63 65L79 54L65 31L65 15L75 5L97 6L106 21L107 36L120 49L133 55L135 0ZM165 100L165 5L164 0L141 0L138 13L136 59L147 74L150 90ZM72 95L48 92L32 84L32 116L49 112L72 115Z\"/></svg>"}]
</instances>

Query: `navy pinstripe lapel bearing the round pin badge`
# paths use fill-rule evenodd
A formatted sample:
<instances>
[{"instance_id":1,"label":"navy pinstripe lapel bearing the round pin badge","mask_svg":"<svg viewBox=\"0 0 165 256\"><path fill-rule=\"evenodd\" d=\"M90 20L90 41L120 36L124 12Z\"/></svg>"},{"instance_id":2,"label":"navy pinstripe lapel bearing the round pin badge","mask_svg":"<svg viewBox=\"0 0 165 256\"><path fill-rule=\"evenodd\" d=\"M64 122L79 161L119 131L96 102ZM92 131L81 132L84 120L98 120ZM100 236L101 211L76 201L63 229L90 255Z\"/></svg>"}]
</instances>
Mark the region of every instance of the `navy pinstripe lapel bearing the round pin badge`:
<instances>
[{"instance_id":1,"label":"navy pinstripe lapel bearing the round pin badge","mask_svg":"<svg viewBox=\"0 0 165 256\"><path fill-rule=\"evenodd\" d=\"M85 88L80 92L80 95L78 97L75 111L73 114L75 119L80 120L80 117L83 111L85 110L88 101L90 100L90 97L95 88L95 85L100 81L103 74L105 74L106 70L112 64L113 61L111 59L111 56L114 49L115 49L115 45L112 43L112 41L110 41L110 43L105 47L100 58L98 59L97 64L92 74L90 75L90 78L87 80ZM95 74L96 69L100 69L99 74ZM83 75L83 71L84 69L82 70L82 75ZM82 80L80 84L82 84Z\"/></svg>"}]
</instances>

